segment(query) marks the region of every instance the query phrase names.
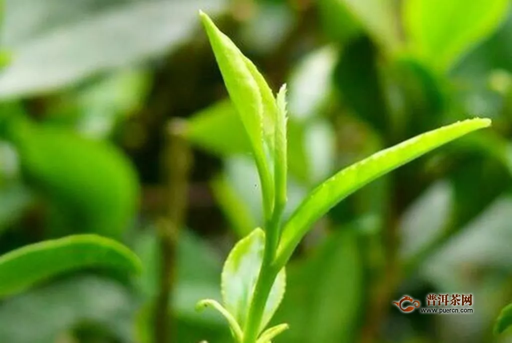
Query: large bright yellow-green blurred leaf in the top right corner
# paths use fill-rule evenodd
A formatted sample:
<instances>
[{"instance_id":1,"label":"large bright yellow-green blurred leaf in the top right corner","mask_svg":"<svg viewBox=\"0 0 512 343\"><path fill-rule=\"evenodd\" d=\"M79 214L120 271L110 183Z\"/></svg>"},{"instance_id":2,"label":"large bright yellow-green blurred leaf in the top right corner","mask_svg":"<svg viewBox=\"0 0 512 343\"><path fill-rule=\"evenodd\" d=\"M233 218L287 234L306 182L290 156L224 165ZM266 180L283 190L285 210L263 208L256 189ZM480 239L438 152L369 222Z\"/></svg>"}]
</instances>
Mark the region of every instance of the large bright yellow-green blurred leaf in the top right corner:
<instances>
[{"instance_id":1,"label":"large bright yellow-green blurred leaf in the top right corner","mask_svg":"<svg viewBox=\"0 0 512 343\"><path fill-rule=\"evenodd\" d=\"M446 72L505 19L508 0L411 0L403 20L411 52Z\"/></svg>"}]
</instances>

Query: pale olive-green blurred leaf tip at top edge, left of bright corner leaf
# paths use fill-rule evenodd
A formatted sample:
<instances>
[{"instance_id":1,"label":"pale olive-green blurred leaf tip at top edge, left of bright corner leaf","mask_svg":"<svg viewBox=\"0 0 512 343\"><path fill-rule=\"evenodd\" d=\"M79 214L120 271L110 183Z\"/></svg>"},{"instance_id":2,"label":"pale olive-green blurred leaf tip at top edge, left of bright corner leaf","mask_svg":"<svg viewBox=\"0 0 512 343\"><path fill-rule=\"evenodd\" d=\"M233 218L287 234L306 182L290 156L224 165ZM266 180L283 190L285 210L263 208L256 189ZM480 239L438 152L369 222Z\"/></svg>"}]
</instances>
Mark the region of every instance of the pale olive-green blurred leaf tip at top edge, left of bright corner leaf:
<instances>
[{"instance_id":1,"label":"pale olive-green blurred leaf tip at top edge, left of bright corner leaf","mask_svg":"<svg viewBox=\"0 0 512 343\"><path fill-rule=\"evenodd\" d=\"M400 40L394 2L391 0L337 0L347 7L364 29L383 48L394 51ZM350 28L350 27L349 27ZM350 29L349 29L350 30Z\"/></svg>"}]
</instances>

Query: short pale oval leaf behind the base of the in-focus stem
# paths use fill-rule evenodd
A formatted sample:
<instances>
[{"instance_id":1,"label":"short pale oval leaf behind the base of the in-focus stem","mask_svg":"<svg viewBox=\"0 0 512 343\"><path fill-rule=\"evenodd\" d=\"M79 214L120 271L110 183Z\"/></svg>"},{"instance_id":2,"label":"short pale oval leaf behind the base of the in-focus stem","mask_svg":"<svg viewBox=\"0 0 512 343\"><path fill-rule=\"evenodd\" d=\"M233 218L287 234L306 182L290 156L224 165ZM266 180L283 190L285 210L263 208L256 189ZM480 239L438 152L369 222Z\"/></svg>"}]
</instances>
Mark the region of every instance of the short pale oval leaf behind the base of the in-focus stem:
<instances>
[{"instance_id":1,"label":"short pale oval leaf behind the base of the in-focus stem","mask_svg":"<svg viewBox=\"0 0 512 343\"><path fill-rule=\"evenodd\" d=\"M224 307L244 327L254 286L258 280L265 248L265 232L255 229L249 236L240 240L231 250L222 271L222 298ZM270 291L263 314L261 328L265 328L283 300L286 274L283 268Z\"/></svg>"}]
</instances>

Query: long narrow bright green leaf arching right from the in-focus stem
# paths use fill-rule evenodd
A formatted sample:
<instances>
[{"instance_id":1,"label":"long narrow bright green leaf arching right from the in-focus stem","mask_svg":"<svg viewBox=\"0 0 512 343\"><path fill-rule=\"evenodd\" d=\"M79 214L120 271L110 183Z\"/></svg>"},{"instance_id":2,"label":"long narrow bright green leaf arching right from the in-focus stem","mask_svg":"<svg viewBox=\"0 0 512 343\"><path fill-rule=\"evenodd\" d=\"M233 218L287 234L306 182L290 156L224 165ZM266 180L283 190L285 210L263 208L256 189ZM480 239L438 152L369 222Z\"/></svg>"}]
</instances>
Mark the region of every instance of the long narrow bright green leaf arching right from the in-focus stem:
<instances>
[{"instance_id":1,"label":"long narrow bright green leaf arching right from the in-focus stem","mask_svg":"<svg viewBox=\"0 0 512 343\"><path fill-rule=\"evenodd\" d=\"M381 150L316 187L295 210L283 228L278 250L278 265L284 265L311 225L334 205L374 179L413 159L453 141L460 136L490 125L489 119L469 119L420 134Z\"/></svg>"}]
</instances>

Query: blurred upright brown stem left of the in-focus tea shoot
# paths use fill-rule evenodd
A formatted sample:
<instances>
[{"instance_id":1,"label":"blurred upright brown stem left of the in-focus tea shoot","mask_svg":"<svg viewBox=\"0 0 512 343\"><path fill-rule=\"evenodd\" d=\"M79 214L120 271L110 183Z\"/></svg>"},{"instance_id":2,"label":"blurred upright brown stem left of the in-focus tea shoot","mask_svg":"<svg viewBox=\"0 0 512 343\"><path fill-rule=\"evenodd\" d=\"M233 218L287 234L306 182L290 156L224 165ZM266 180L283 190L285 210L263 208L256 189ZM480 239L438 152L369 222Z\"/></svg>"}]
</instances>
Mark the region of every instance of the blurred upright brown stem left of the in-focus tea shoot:
<instances>
[{"instance_id":1,"label":"blurred upright brown stem left of the in-focus tea shoot","mask_svg":"<svg viewBox=\"0 0 512 343\"><path fill-rule=\"evenodd\" d=\"M172 341L173 286L176 275L176 246L180 228L183 226L188 194L188 176L191 152L185 138L180 134L181 121L174 119L165 132L165 149L162 156L166 179L165 216L158 222L160 242L160 287L155 304L155 343Z\"/></svg>"}]
</instances>

